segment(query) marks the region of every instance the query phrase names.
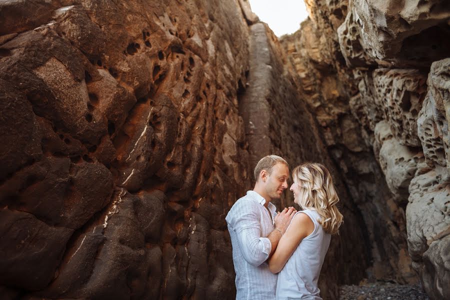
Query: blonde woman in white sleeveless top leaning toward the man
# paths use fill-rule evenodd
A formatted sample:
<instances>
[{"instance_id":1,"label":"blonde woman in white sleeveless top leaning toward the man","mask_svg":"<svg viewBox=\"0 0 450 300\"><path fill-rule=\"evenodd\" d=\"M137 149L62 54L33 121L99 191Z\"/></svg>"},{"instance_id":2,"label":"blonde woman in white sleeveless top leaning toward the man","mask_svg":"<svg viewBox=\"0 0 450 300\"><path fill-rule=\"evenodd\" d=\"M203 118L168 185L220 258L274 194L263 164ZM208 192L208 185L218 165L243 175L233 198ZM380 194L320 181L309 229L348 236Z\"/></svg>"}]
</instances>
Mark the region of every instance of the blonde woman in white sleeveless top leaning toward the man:
<instances>
[{"instance_id":1,"label":"blonde woman in white sleeveless top leaning toward the man","mask_svg":"<svg viewBox=\"0 0 450 300\"><path fill-rule=\"evenodd\" d=\"M278 274L276 299L322 299L317 279L331 234L337 233L342 214L328 170L319 163L303 163L292 171L290 190L303 210L295 213L269 259Z\"/></svg>"}]
</instances>

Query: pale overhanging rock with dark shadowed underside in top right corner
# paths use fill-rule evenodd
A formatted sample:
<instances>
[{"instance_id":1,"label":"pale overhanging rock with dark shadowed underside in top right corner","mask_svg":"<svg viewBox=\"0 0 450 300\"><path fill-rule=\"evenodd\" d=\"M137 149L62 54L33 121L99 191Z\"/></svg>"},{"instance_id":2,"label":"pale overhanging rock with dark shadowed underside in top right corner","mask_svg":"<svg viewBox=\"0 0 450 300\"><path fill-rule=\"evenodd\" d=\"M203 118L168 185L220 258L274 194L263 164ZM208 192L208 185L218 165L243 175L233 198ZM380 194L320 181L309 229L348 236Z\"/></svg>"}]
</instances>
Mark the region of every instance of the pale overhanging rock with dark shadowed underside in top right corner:
<instances>
[{"instance_id":1,"label":"pale overhanging rock with dark shadowed underside in top right corner","mask_svg":"<svg viewBox=\"0 0 450 300\"><path fill-rule=\"evenodd\" d=\"M426 67L448 55L448 1L352 1L373 57Z\"/></svg>"}]
</instances>

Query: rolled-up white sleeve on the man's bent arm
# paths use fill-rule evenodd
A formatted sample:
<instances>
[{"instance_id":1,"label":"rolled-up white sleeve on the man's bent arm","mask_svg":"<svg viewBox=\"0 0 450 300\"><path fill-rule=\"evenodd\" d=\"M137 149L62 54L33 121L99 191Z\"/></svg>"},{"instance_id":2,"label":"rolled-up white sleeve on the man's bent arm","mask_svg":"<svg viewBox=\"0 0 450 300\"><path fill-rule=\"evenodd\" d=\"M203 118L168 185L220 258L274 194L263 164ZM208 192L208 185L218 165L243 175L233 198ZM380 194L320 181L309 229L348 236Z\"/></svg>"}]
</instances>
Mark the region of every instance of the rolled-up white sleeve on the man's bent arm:
<instances>
[{"instance_id":1,"label":"rolled-up white sleeve on the man's bent arm","mask_svg":"<svg viewBox=\"0 0 450 300\"><path fill-rule=\"evenodd\" d=\"M260 216L253 205L259 204L241 201L236 205L233 217L227 222L236 233L244 259L249 264L258 266L267 260L272 244L267 237L261 237Z\"/></svg>"}]
</instances>

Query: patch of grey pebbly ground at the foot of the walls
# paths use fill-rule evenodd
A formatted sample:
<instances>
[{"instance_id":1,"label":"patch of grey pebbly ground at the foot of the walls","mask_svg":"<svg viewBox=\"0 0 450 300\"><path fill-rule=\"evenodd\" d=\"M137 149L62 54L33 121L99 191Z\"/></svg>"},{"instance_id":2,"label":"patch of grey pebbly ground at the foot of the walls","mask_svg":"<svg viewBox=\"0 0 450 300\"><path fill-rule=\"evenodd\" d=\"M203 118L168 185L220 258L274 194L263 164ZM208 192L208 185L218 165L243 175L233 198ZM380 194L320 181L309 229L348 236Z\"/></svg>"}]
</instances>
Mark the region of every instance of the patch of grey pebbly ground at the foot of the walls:
<instances>
[{"instance_id":1,"label":"patch of grey pebbly ground at the foot of the walls","mask_svg":"<svg viewBox=\"0 0 450 300\"><path fill-rule=\"evenodd\" d=\"M340 300L428 300L419 284L397 284L377 281L360 285L341 285Z\"/></svg>"}]
</instances>

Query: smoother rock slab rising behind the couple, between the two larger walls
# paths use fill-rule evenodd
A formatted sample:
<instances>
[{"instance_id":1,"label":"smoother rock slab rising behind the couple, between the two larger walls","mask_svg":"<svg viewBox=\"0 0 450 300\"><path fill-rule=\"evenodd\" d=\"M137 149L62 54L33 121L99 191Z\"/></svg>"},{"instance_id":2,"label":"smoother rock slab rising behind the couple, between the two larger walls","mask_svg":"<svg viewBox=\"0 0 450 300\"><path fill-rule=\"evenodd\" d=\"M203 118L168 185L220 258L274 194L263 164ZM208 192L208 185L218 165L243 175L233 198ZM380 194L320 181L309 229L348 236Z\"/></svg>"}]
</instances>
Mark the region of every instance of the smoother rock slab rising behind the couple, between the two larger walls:
<instances>
[{"instance_id":1,"label":"smoother rock slab rising behind the couple, between the two larger walls","mask_svg":"<svg viewBox=\"0 0 450 300\"><path fill-rule=\"evenodd\" d=\"M336 172L317 122L286 67L286 55L278 39L264 23L255 22L249 29L247 84L238 91L249 161L255 165L261 156L277 153L291 167L304 161L320 161L333 172L345 222L340 234L332 237L318 284L324 298L335 299L338 284L358 282L369 265L365 243L358 242L365 240L366 228ZM285 190L274 203L277 207L294 205L292 193Z\"/></svg>"}]
</instances>

